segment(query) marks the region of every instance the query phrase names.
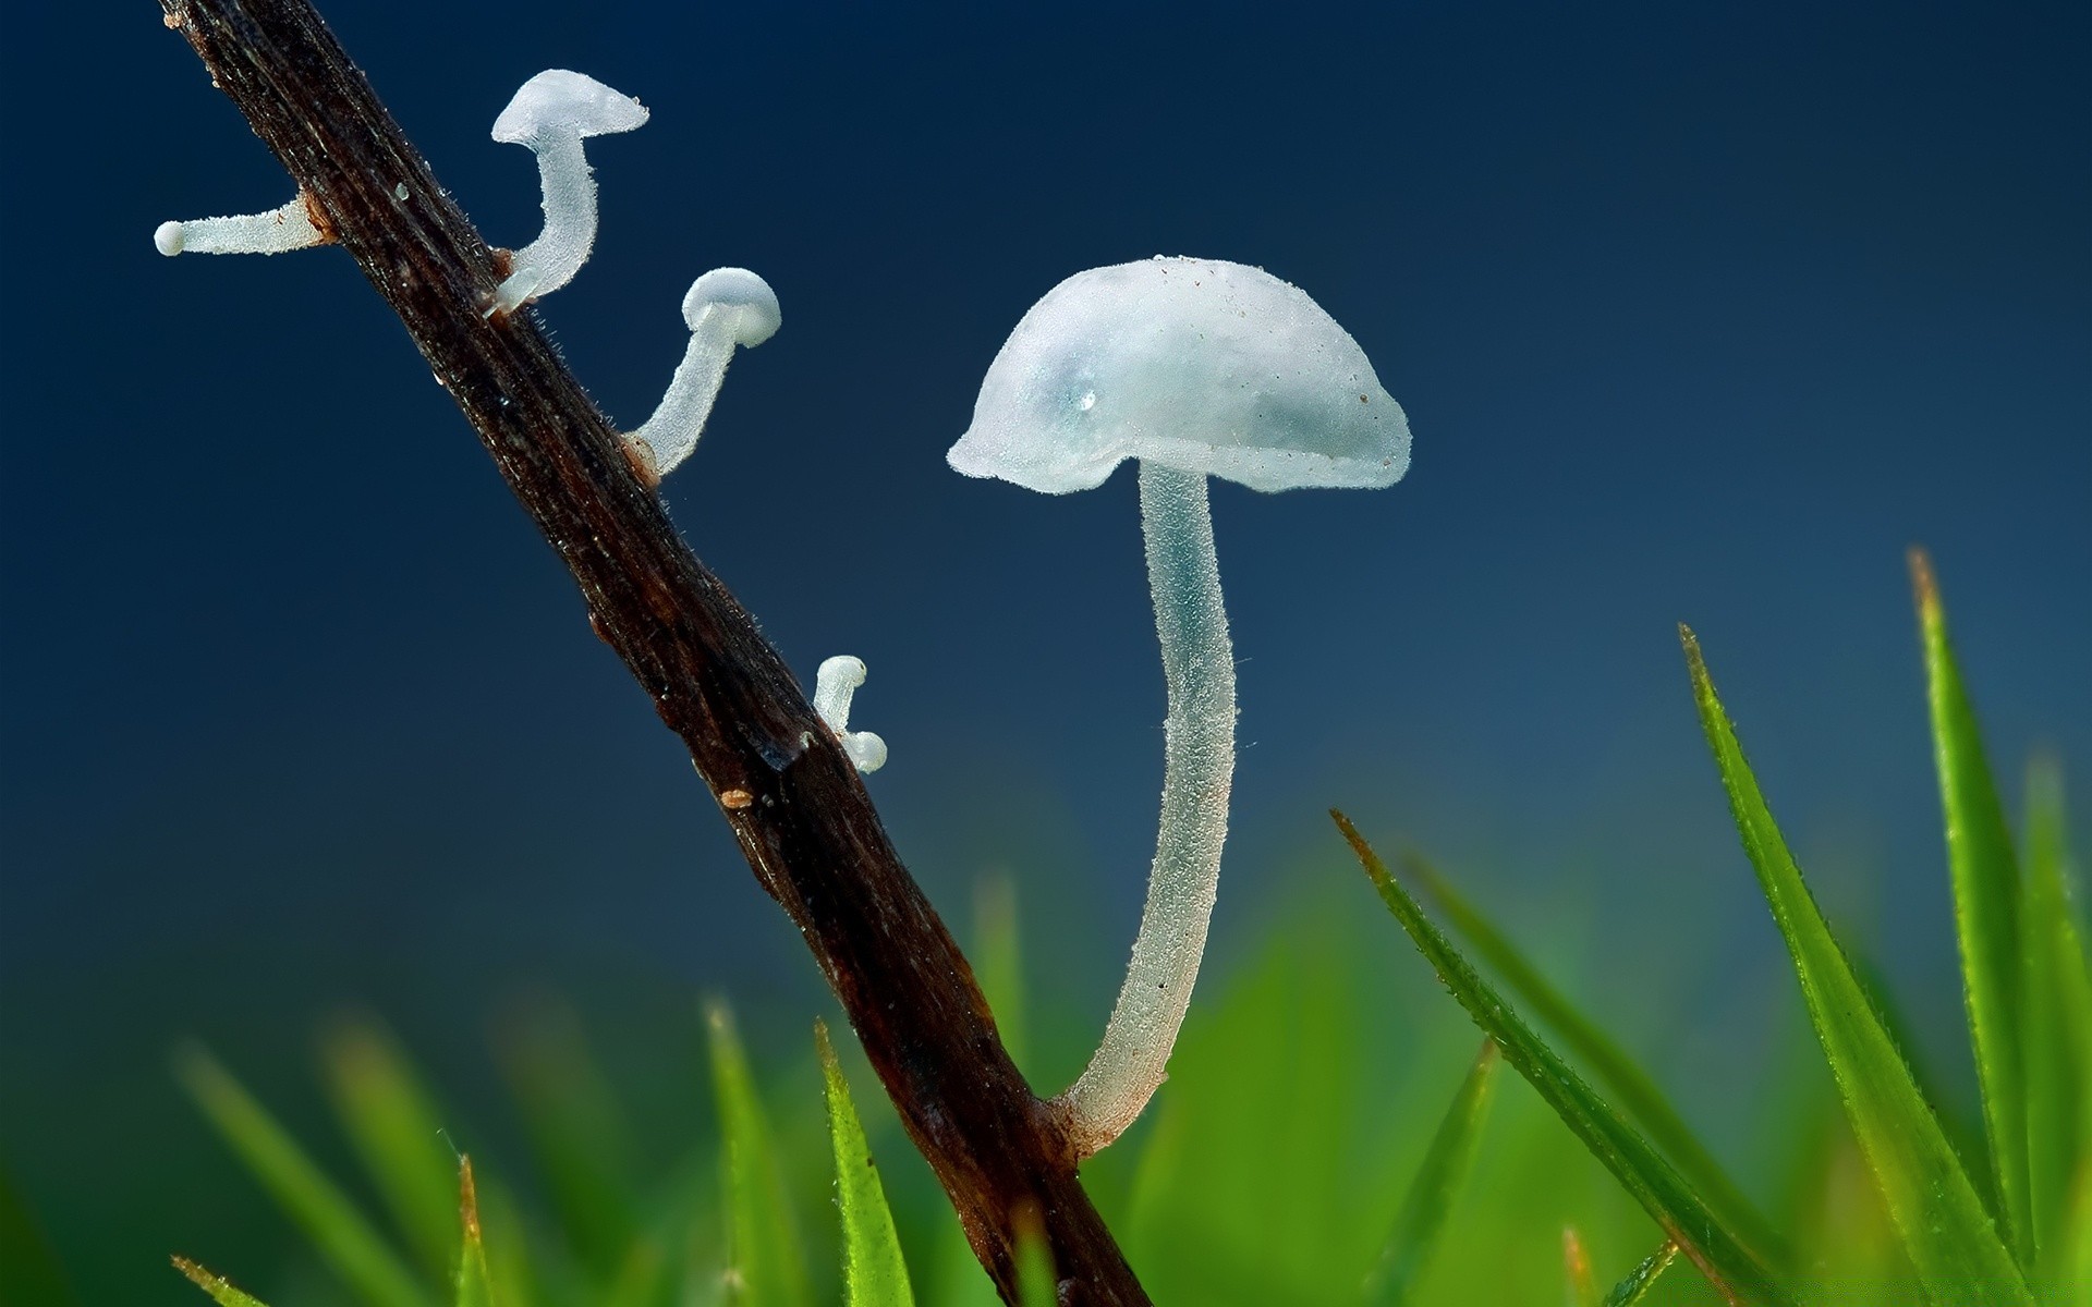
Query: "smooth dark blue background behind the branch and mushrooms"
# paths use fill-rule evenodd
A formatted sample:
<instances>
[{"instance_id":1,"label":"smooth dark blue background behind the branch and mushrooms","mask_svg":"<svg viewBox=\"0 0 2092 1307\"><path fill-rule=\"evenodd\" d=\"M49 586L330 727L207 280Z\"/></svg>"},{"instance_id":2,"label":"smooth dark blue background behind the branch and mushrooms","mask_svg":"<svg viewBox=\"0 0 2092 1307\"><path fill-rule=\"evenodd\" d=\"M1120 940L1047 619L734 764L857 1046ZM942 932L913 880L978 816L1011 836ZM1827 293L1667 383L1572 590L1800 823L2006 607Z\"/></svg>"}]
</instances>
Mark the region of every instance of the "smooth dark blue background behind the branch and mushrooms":
<instances>
[{"instance_id":1,"label":"smooth dark blue background behind the branch and mushrooms","mask_svg":"<svg viewBox=\"0 0 2092 1307\"><path fill-rule=\"evenodd\" d=\"M1197 253L1308 289L1416 433L1389 491L1215 489L1222 956L1347 874L1341 803L1590 939L1630 1018L1784 993L1684 619L1958 1067L1902 550L2010 788L2036 747L2092 767L2084 4L324 8L496 243L538 230L487 140L527 75L653 109L592 142L602 234L544 322L636 425L699 272L776 286L669 506L795 667L868 661L902 849L958 916L1015 868L1079 1021L1161 774L1132 479L1048 500L943 450L1056 280ZM0 1148L61 1244L109 1213L151 1261L241 1190L167 1090L182 1033L293 1096L280 1050L349 995L467 1081L527 985L724 989L795 1041L812 966L349 259L153 253L289 194L184 42L23 6L0 59Z\"/></svg>"}]
</instances>

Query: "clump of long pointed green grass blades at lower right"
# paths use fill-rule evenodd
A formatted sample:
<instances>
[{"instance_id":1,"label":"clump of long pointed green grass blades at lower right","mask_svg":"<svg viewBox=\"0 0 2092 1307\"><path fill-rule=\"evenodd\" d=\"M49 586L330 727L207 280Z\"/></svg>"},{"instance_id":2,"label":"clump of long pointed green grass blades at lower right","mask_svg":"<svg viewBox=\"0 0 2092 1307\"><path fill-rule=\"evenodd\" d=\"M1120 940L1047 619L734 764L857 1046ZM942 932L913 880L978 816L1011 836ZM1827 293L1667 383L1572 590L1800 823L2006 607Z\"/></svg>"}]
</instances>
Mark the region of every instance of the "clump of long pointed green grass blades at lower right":
<instances>
[{"instance_id":1,"label":"clump of long pointed green grass blades at lower right","mask_svg":"<svg viewBox=\"0 0 2092 1307\"><path fill-rule=\"evenodd\" d=\"M1983 1094L1983 1175L1973 1177L1962 1167L1948 1129L1883 1021L1877 995L1847 962L1816 908L1745 761L1699 640L1690 629L1680 627L1680 634L1701 726L1728 790L1736 830L1787 941L1822 1056L1902 1255L1916 1276L1916 1288L1939 1303L2031 1307L2036 1286L2063 1290L2088 1257L2082 1219L2077 1230L2063 1230L2069 1207L2063 1198L2065 1177L2088 1171L2079 1113L2069 1108L2084 1085L2092 1083L2086 1079L2092 1060L2084 1058L2079 1033L2069 1029L2069 1012L2082 1010L2073 995L2086 985L2086 956L2063 889L2061 805L2052 797L2054 786L2036 790L2029 816L2029 826L2040 830L2029 847L2040 843L2042 872L2021 880L1975 711L1948 642L1946 609L1920 552L1912 554L1912 575L1931 686L1969 1037ZM1460 922L1475 949L1510 977L1521 998L1544 1012L1588 1064L1602 1069L1628 1104L1628 1115L1598 1100L1567 1060L1437 931L1343 813L1335 816L1389 912L1446 987L1483 1031L1504 1041L1510 1064L1634 1194L1663 1228L1667 1242L1728 1301L1801 1301L1810 1280L1805 1267L1822 1261L1768 1261L1751 1248L1757 1219L1747 1215L1741 1194L1720 1175L1713 1159L1690 1138L1655 1085L1561 1000L1479 912L1450 893L1425 864L1412 862L1412 868L1423 868L1418 878L1448 903L1448 916ZM2038 1067L2040 1075L2029 1077L2029 1067ZM1653 1148L1644 1131L1661 1131L1672 1156ZM1695 1177L1674 1165L1680 1159ZM2042 1177L2040 1202L2033 1198L2036 1175ZM1588 1276L1575 1269L1584 1259L1573 1234L1569 1246L1571 1297L1594 1299L1594 1290L1579 1288ZM1761 1238L1759 1246L1766 1246Z\"/></svg>"}]
</instances>

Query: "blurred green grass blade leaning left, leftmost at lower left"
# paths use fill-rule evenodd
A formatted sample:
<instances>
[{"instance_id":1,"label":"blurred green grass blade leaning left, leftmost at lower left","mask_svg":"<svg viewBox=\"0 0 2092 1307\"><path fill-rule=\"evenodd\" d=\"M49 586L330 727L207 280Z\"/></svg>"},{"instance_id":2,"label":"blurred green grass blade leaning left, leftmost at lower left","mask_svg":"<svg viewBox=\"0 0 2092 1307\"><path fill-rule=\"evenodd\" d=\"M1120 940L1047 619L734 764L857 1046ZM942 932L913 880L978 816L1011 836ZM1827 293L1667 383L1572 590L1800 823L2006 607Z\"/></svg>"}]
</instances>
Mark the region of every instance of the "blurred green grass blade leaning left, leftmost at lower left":
<instances>
[{"instance_id":1,"label":"blurred green grass blade leaning left, leftmost at lower left","mask_svg":"<svg viewBox=\"0 0 2092 1307\"><path fill-rule=\"evenodd\" d=\"M201 1048L176 1058L176 1075L262 1188L276 1198L326 1263L370 1307L429 1307L414 1274L333 1179L232 1075Z\"/></svg>"}]
</instances>

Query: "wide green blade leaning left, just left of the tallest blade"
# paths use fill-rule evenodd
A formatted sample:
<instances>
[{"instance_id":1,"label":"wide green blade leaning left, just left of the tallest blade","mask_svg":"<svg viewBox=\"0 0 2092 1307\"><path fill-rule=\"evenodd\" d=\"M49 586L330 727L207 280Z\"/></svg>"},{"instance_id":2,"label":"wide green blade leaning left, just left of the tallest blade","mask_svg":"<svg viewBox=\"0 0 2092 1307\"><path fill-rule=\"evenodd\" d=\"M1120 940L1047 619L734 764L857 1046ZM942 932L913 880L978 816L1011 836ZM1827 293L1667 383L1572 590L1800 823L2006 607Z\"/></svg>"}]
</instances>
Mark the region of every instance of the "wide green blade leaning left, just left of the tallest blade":
<instances>
[{"instance_id":1,"label":"wide green blade leaning left, just left of the tallest blade","mask_svg":"<svg viewBox=\"0 0 2092 1307\"><path fill-rule=\"evenodd\" d=\"M1845 1115L1860 1138L1889 1217L1918 1276L1950 1303L2031 1305L2013 1255L1962 1171L1939 1121L1925 1104L1902 1054L1839 951L1830 926L1801 880L1766 797L1751 776L1736 732L1715 698L1699 640L1680 627L1701 726L1722 772L1722 788L1743 834L1743 849L1793 956L1801 995L1816 1025Z\"/></svg>"}]
</instances>

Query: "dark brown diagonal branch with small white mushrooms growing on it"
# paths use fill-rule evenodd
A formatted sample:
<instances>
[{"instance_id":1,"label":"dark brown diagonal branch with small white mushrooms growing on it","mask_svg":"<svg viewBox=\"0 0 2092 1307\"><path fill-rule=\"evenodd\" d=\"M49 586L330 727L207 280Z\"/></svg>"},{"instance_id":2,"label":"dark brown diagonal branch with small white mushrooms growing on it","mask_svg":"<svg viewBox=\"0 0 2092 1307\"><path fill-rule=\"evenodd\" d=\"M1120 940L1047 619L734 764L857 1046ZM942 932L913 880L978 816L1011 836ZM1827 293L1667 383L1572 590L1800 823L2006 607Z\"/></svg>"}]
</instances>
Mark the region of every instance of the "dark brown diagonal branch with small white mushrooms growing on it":
<instances>
[{"instance_id":1,"label":"dark brown diagonal branch with small white mushrooms growing on it","mask_svg":"<svg viewBox=\"0 0 2092 1307\"><path fill-rule=\"evenodd\" d=\"M529 312L492 320L494 253L305 0L163 0L255 134L400 314L517 500L573 571L596 634L682 736L770 897L814 949L973 1251L1015 1301L1038 1221L1063 1303L1146 1303L1010 1064L967 958L902 868L835 736Z\"/></svg>"}]
</instances>

